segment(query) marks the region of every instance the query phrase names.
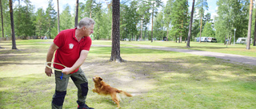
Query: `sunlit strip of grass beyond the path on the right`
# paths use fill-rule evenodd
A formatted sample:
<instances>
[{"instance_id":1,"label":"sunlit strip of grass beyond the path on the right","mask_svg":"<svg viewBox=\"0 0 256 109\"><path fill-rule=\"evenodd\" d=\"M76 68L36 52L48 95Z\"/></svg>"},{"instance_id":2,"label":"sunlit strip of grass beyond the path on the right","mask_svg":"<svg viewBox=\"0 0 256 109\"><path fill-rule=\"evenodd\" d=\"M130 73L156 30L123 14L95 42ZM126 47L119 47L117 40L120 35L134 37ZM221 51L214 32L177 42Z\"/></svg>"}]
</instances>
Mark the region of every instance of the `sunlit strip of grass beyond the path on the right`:
<instances>
[{"instance_id":1,"label":"sunlit strip of grass beyond the path on the right","mask_svg":"<svg viewBox=\"0 0 256 109\"><path fill-rule=\"evenodd\" d=\"M101 42L102 43L102 42ZM106 43L106 42L105 42ZM175 43L173 41L122 41L122 46L134 47L134 45L153 45L153 46L164 46L177 49L192 49L216 53L230 53L242 56L254 56L256 57L256 46L250 45L250 49L246 49L246 45L224 45L223 43L210 43L210 42L190 42L190 48L186 48L186 43Z\"/></svg>"}]
</instances>

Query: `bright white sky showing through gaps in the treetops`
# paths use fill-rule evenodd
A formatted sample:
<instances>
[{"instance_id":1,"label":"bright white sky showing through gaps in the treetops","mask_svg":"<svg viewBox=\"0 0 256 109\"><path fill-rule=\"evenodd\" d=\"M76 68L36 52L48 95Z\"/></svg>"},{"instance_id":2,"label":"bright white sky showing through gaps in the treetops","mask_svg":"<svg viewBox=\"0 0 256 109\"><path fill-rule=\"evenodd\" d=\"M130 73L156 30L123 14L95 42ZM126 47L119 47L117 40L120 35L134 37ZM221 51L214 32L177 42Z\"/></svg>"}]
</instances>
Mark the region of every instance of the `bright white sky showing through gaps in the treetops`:
<instances>
[{"instance_id":1,"label":"bright white sky showing through gaps in the treetops","mask_svg":"<svg viewBox=\"0 0 256 109\"><path fill-rule=\"evenodd\" d=\"M109 2L109 1L110 0L96 0L96 2L102 2L102 4L106 4L106 2ZM166 1L167 0L162 0L164 4L166 4ZM48 6L48 0L30 0L30 2L36 8L35 10L38 10L38 8L42 8L43 10L46 10ZM54 2L54 9L57 11L57 0L53 0L53 2ZM79 0L79 2L86 3L86 0ZM189 6L190 6L189 10L191 10L192 2L193 0L189 0ZM197 0L195 0L195 2L197 2ZM213 19L214 16L217 15L217 10L218 10L218 7L216 5L217 0L208 0L207 2L208 2L209 9L206 10L206 13L210 13L211 18ZM75 3L76 3L75 0L58 0L60 12L62 13L62 10L64 10L64 6L66 6L66 4L70 6L71 8L70 10L74 10ZM15 4L18 4L18 2L16 1ZM72 13L72 11L70 12Z\"/></svg>"}]
</instances>

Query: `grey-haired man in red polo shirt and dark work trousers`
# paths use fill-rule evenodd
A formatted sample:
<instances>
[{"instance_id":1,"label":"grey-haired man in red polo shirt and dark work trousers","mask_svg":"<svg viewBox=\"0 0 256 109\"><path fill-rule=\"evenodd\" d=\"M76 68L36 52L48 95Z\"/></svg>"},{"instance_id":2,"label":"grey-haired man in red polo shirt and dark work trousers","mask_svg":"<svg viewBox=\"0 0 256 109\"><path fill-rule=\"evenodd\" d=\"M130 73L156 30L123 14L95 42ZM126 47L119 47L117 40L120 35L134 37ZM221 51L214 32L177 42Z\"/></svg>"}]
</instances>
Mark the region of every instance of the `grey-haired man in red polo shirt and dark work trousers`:
<instances>
[{"instance_id":1,"label":"grey-haired man in red polo shirt and dark work trousers","mask_svg":"<svg viewBox=\"0 0 256 109\"><path fill-rule=\"evenodd\" d=\"M54 38L54 43L50 45L46 61L51 62L54 56L54 63L58 63L54 64L54 68L62 69L62 72L54 71L56 87L51 103L53 109L62 109L69 78L78 88L78 109L93 109L86 105L88 81L80 66L86 60L90 50L89 36L94 33L94 24L93 19L82 18L77 28L62 30ZM66 68L59 64L65 65ZM47 67L45 72L47 76L53 74L52 69Z\"/></svg>"}]
</instances>

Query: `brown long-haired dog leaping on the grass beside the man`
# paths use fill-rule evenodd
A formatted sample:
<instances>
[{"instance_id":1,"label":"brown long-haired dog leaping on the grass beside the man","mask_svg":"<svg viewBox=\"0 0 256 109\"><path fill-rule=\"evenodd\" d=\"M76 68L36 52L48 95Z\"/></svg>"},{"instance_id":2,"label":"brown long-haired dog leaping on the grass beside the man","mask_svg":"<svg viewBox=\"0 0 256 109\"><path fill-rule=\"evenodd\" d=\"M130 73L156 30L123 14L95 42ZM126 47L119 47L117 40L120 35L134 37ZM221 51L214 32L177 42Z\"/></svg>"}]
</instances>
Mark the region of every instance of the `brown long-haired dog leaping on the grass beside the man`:
<instances>
[{"instance_id":1,"label":"brown long-haired dog leaping on the grass beside the man","mask_svg":"<svg viewBox=\"0 0 256 109\"><path fill-rule=\"evenodd\" d=\"M126 91L121 91L121 90L118 90L117 88L110 87L110 85L106 84L102 80L102 78L99 76L94 76L93 80L94 80L94 87L95 87L93 91L97 92L99 95L110 95L113 101L118 104L118 107L120 107L119 102L121 101L118 93L121 93L129 97L132 96Z\"/></svg>"}]
</instances>

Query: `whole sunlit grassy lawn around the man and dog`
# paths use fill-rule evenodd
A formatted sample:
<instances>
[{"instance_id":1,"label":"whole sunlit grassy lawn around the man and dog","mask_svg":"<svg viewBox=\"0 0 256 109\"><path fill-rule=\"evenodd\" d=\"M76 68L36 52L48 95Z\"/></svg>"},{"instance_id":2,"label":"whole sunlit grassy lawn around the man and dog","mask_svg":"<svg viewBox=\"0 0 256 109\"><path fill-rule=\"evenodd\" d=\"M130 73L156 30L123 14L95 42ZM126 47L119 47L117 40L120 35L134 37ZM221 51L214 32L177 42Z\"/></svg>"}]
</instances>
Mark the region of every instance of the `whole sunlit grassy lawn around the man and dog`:
<instances>
[{"instance_id":1,"label":"whole sunlit grassy lawn around the man and dog","mask_svg":"<svg viewBox=\"0 0 256 109\"><path fill-rule=\"evenodd\" d=\"M0 108L48 109L54 94L54 77L44 73L46 52L52 40L0 41ZM111 45L111 41L93 41ZM185 43L154 41L121 42L122 59L110 60L111 47L92 46L82 69L89 80L86 103L96 109L113 109L110 97L93 93L93 76L133 97L122 97L123 109L166 108L256 108L256 66L233 64L209 56L196 56L161 50L138 49L155 45L186 49ZM190 49L255 56L255 47L245 45L191 43ZM129 48L127 48L129 47ZM244 53L242 53L243 51ZM72 80L63 108L77 107L77 89Z\"/></svg>"}]
</instances>

